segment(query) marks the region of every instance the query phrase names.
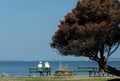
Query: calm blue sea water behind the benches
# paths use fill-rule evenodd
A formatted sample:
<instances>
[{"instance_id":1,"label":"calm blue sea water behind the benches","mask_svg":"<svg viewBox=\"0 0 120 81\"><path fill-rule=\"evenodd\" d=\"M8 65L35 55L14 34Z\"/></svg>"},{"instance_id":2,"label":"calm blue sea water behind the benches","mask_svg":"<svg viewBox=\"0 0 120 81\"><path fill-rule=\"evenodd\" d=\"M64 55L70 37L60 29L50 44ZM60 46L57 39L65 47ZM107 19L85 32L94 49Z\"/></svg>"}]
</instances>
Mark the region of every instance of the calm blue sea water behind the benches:
<instances>
[{"instance_id":1,"label":"calm blue sea water behind the benches","mask_svg":"<svg viewBox=\"0 0 120 81\"><path fill-rule=\"evenodd\" d=\"M60 64L68 65L71 70L78 66L98 66L93 61L48 61L52 71L56 71ZM1 61L0 74L7 73L10 76L27 76L30 67L37 67L38 61ZM108 62L111 66L120 66L120 61ZM37 74L36 74L37 75Z\"/></svg>"}]
</instances>

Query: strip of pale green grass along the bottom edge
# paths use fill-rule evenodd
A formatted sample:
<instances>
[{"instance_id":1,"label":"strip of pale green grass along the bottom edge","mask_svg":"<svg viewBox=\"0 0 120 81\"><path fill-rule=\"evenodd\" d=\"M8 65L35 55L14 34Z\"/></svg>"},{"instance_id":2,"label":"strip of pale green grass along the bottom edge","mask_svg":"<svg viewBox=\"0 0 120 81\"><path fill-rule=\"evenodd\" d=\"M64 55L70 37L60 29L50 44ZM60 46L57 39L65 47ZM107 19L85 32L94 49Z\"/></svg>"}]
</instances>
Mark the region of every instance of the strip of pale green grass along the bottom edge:
<instances>
[{"instance_id":1,"label":"strip of pale green grass along the bottom edge","mask_svg":"<svg viewBox=\"0 0 120 81\"><path fill-rule=\"evenodd\" d=\"M0 77L0 81L107 81L119 77L49 76L49 77Z\"/></svg>"}]
</instances>

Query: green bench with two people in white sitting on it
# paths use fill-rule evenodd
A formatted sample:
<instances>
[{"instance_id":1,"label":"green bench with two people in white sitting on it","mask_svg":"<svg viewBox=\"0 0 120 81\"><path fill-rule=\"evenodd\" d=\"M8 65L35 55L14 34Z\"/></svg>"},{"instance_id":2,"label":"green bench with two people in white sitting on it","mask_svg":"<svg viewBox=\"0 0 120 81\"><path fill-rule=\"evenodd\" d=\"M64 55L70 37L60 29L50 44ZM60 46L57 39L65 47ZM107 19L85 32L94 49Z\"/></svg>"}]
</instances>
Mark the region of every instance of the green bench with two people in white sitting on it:
<instances>
[{"instance_id":1,"label":"green bench with two people in white sitting on it","mask_svg":"<svg viewBox=\"0 0 120 81\"><path fill-rule=\"evenodd\" d=\"M51 68L29 68L29 75L32 75L32 73L40 73L40 76L44 76L44 73L46 75L51 74Z\"/></svg>"}]
</instances>

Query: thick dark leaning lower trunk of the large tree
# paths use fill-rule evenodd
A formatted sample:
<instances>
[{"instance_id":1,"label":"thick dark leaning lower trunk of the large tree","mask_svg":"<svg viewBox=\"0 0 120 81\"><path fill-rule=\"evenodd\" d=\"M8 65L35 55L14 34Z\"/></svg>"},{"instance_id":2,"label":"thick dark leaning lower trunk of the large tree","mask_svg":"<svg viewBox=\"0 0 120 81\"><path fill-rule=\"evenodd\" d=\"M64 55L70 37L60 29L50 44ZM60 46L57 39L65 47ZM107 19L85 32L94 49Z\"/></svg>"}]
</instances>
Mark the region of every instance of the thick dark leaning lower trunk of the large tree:
<instances>
[{"instance_id":1,"label":"thick dark leaning lower trunk of the large tree","mask_svg":"<svg viewBox=\"0 0 120 81\"><path fill-rule=\"evenodd\" d=\"M111 67L109 65L106 65L106 62L99 61L98 62L99 67L103 69L105 72L108 72L110 74L116 75L120 77L120 71L116 69L115 67Z\"/></svg>"}]
</instances>

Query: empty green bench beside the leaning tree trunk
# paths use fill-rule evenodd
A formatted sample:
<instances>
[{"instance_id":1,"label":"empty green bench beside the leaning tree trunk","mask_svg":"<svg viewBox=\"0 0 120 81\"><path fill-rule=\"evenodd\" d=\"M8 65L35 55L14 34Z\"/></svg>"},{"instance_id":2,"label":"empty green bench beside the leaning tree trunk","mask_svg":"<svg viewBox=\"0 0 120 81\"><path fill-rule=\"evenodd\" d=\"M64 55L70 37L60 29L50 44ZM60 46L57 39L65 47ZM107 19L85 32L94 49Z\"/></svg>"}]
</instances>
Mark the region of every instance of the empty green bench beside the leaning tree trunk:
<instances>
[{"instance_id":1,"label":"empty green bench beside the leaning tree trunk","mask_svg":"<svg viewBox=\"0 0 120 81\"><path fill-rule=\"evenodd\" d=\"M78 67L74 72L88 72L89 76L94 73L94 77L96 76L97 67Z\"/></svg>"}]
</instances>

